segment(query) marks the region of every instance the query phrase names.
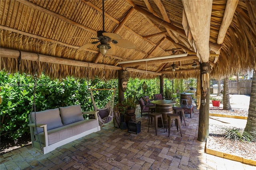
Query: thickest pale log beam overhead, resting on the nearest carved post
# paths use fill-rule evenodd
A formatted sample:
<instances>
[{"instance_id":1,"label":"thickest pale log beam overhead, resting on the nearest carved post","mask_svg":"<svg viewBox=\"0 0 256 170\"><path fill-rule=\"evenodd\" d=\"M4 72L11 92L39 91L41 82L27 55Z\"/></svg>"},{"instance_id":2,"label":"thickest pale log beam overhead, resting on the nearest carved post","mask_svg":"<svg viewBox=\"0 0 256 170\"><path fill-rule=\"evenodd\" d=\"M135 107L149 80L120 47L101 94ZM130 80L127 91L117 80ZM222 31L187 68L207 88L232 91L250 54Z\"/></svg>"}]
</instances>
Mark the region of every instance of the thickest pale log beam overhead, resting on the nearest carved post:
<instances>
[{"instance_id":1,"label":"thickest pale log beam overhead, resting on the nearest carved post","mask_svg":"<svg viewBox=\"0 0 256 170\"><path fill-rule=\"evenodd\" d=\"M182 0L182 3L198 58L202 62L208 62L212 0Z\"/></svg>"}]
</instances>

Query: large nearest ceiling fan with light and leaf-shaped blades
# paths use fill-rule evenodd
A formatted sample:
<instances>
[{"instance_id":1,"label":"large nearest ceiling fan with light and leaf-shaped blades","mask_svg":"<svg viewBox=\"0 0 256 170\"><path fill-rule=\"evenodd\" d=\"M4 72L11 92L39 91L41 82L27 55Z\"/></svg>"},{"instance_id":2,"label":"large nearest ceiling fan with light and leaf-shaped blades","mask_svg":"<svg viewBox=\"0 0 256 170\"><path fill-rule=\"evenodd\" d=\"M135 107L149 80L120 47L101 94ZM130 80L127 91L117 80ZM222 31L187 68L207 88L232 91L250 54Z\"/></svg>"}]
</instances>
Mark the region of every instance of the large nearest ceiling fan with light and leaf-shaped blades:
<instances>
[{"instance_id":1,"label":"large nearest ceiling fan with light and leaf-shaped blades","mask_svg":"<svg viewBox=\"0 0 256 170\"><path fill-rule=\"evenodd\" d=\"M109 55L114 55L115 53L115 46L122 48L128 48L128 49L135 49L137 48L136 45L132 42L129 42L128 40L122 39L122 36L106 32L104 29L104 0L102 0L102 19L103 19L103 30L97 31L97 37L90 37L91 39L98 40L95 42L90 42L82 45L77 50L81 51L84 49L87 49L91 47L92 45L98 44L97 47L100 49L100 53L102 55L106 55L108 53Z\"/></svg>"}]
</instances>

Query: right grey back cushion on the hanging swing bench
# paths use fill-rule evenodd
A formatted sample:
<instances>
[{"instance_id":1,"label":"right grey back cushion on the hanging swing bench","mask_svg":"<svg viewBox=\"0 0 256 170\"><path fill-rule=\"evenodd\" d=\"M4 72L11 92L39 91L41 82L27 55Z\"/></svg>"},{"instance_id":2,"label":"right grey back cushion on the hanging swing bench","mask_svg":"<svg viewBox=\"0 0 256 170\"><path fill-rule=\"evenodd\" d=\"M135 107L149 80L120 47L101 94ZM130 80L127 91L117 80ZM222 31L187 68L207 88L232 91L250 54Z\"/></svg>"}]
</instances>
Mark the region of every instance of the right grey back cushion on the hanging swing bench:
<instances>
[{"instance_id":1,"label":"right grey back cushion on the hanging swing bench","mask_svg":"<svg viewBox=\"0 0 256 170\"><path fill-rule=\"evenodd\" d=\"M84 120L80 104L60 107L60 117L62 119L63 125L68 125L70 123Z\"/></svg>"}]
</instances>

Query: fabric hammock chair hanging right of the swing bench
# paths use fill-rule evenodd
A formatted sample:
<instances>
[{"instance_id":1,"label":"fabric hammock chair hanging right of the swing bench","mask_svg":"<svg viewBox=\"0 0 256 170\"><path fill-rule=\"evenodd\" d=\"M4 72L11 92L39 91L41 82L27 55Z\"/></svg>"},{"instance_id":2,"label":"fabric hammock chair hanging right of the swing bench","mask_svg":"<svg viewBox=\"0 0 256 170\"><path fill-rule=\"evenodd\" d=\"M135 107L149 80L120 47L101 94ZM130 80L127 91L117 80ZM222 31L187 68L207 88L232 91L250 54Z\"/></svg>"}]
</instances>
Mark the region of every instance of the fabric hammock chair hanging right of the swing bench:
<instances>
[{"instance_id":1,"label":"fabric hammock chair hanging right of the swing bench","mask_svg":"<svg viewBox=\"0 0 256 170\"><path fill-rule=\"evenodd\" d=\"M96 103L94 101L94 97L92 94L93 90L114 90L113 91L113 95L110 99L110 101L108 101L108 103L106 104L106 106L102 109L99 109L96 106ZM92 103L93 103L93 107L94 107L94 111L99 111L98 114L98 120L99 120L99 124L100 126L102 126L105 123L109 123L110 121L112 121L113 119L113 115L114 115L114 99L115 99L115 95L116 95L116 89L90 89L91 91L91 96L92 96Z\"/></svg>"}]
</instances>

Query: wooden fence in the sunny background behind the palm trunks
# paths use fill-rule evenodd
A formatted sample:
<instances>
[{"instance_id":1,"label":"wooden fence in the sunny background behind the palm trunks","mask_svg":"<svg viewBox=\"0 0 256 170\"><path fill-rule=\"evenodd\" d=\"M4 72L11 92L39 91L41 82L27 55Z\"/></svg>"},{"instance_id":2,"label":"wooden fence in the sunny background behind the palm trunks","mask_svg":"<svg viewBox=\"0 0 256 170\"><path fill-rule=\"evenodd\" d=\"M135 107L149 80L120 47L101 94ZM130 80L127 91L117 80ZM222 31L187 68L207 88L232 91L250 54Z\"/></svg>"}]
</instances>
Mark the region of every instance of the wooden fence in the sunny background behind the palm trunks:
<instances>
[{"instance_id":1,"label":"wooden fence in the sunny background behind the palm trunks","mask_svg":"<svg viewBox=\"0 0 256 170\"><path fill-rule=\"evenodd\" d=\"M210 81L210 92L216 92L213 90L213 85L218 84L218 81L211 80ZM221 81L223 84L223 81ZM231 95L251 95L251 86L252 80L244 80L241 79L237 82L237 80L230 80L229 81L229 94Z\"/></svg>"}]
</instances>

